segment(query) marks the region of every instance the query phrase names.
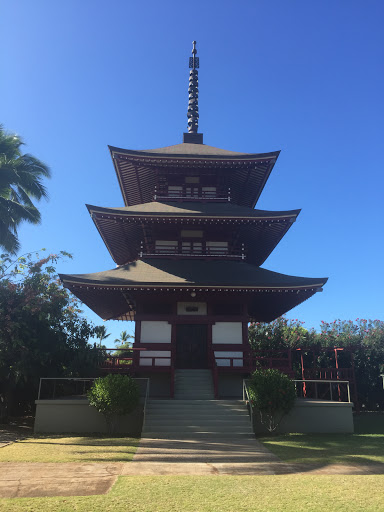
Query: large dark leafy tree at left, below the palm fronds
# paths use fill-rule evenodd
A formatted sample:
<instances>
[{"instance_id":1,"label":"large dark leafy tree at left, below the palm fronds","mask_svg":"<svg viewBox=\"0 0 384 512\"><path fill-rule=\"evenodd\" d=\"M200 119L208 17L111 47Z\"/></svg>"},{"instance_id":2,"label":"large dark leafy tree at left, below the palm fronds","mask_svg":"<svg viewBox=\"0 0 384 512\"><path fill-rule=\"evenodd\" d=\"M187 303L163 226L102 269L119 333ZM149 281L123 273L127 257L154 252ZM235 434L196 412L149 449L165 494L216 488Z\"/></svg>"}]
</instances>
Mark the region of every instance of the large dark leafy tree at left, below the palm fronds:
<instances>
[{"instance_id":1,"label":"large dark leafy tree at left, below the palm fronds","mask_svg":"<svg viewBox=\"0 0 384 512\"><path fill-rule=\"evenodd\" d=\"M93 376L92 325L56 275L64 251L0 258L0 402L28 411L40 377Z\"/></svg>"}]
</instances>

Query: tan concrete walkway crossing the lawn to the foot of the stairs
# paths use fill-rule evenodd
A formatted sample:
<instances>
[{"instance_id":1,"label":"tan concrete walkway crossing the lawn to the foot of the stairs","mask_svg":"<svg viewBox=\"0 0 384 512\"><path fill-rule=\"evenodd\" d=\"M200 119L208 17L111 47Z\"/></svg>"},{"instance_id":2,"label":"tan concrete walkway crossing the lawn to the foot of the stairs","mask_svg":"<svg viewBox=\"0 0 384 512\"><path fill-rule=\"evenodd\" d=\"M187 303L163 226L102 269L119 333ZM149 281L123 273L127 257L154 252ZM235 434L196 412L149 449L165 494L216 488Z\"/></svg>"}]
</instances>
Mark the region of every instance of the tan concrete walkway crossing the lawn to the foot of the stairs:
<instances>
[{"instance_id":1,"label":"tan concrete walkway crossing the lawn to the foot of the stairs","mask_svg":"<svg viewBox=\"0 0 384 512\"><path fill-rule=\"evenodd\" d=\"M0 439L1 440L1 439ZM384 474L384 464L311 466L281 462L256 439L143 438L127 463L0 463L0 497L106 494L118 476Z\"/></svg>"}]
</instances>

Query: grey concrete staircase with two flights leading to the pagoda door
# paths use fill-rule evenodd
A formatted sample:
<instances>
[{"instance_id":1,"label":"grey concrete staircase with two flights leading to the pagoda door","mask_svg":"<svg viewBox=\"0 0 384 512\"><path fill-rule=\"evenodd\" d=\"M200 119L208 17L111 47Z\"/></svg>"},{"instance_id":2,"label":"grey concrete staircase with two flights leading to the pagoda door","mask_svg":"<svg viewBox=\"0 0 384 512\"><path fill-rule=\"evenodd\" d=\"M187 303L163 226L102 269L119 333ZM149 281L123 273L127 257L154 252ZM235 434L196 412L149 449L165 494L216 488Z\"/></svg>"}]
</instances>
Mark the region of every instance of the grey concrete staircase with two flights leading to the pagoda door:
<instances>
[{"instance_id":1,"label":"grey concrete staircase with two flights leading to the pagoda door","mask_svg":"<svg viewBox=\"0 0 384 512\"><path fill-rule=\"evenodd\" d=\"M149 400L143 438L253 438L241 400L214 400L209 370L178 370L174 400Z\"/></svg>"}]
</instances>

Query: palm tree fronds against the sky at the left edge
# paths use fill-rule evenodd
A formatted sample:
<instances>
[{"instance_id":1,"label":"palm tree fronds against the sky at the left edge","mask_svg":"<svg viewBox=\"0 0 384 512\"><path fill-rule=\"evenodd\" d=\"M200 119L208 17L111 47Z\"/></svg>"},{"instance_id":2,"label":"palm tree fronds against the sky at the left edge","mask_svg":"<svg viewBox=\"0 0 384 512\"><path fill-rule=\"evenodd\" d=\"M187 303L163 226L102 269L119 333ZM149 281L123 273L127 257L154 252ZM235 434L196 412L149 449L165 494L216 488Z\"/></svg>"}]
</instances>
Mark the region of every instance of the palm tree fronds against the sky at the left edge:
<instances>
[{"instance_id":1,"label":"palm tree fronds against the sky at the left edge","mask_svg":"<svg viewBox=\"0 0 384 512\"><path fill-rule=\"evenodd\" d=\"M21 153L23 141L0 125L0 248L16 254L17 229L23 221L39 224L40 212L31 199L47 198L42 178L49 168L29 154Z\"/></svg>"}]
</instances>

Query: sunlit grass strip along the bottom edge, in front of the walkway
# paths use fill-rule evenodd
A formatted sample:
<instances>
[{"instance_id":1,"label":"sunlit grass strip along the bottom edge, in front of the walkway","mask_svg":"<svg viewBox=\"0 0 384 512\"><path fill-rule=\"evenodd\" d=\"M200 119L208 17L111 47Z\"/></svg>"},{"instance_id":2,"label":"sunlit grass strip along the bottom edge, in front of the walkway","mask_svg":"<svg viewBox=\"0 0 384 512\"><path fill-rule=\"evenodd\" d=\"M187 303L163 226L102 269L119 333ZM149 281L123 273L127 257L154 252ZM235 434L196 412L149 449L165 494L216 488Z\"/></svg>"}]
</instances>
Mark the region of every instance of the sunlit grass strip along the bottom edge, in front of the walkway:
<instances>
[{"instance_id":1,"label":"sunlit grass strip along the bottom edge, in front of the walkway","mask_svg":"<svg viewBox=\"0 0 384 512\"><path fill-rule=\"evenodd\" d=\"M7 512L379 512L383 476L133 476L102 496L0 499Z\"/></svg>"}]
</instances>

